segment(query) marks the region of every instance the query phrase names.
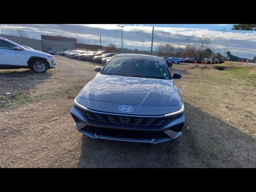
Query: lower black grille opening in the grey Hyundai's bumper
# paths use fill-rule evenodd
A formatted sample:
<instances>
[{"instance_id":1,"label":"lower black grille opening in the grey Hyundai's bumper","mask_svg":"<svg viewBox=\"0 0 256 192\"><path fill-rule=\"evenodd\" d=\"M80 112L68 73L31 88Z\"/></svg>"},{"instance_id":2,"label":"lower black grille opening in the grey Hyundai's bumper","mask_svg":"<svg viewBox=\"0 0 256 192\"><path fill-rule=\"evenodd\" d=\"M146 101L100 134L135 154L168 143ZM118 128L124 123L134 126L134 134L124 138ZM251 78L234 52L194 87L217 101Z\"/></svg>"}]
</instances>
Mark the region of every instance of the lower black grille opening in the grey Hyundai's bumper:
<instances>
[{"instance_id":1,"label":"lower black grille opening in the grey Hyundai's bumper","mask_svg":"<svg viewBox=\"0 0 256 192\"><path fill-rule=\"evenodd\" d=\"M85 126L84 130L92 134L102 136L121 137L121 138L136 138L136 139L158 139L168 137L163 131L134 131L134 130L120 130L112 128L98 128L92 126Z\"/></svg>"}]
</instances>

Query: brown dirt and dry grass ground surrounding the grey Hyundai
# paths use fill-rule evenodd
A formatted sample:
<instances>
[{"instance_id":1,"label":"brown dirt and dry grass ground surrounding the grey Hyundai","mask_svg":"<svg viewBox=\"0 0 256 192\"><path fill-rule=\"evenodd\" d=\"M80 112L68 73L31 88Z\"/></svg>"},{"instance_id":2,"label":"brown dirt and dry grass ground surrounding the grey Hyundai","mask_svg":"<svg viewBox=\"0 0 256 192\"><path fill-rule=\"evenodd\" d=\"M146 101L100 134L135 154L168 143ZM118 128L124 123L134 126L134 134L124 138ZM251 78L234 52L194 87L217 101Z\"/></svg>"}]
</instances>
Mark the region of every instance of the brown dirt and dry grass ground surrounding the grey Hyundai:
<instances>
[{"instance_id":1,"label":"brown dirt and dry grass ground surrounding the grey Hyundai","mask_svg":"<svg viewBox=\"0 0 256 192\"><path fill-rule=\"evenodd\" d=\"M161 144L94 140L74 129L70 109L97 64L55 58L45 74L0 71L0 167L256 167L256 88L246 80L174 64L182 74L175 80L185 104L182 136Z\"/></svg>"}]
</instances>

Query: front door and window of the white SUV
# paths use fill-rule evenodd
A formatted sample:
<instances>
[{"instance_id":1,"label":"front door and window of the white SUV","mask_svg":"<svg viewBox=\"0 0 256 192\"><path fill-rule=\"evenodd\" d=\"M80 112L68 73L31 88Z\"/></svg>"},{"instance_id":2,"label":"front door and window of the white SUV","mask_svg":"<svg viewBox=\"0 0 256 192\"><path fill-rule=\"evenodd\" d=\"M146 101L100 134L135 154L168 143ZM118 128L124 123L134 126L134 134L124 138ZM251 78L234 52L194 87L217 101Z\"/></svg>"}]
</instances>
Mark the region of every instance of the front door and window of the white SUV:
<instances>
[{"instance_id":1,"label":"front door and window of the white SUV","mask_svg":"<svg viewBox=\"0 0 256 192\"><path fill-rule=\"evenodd\" d=\"M15 45L0 40L0 64L8 66L28 66L25 50L15 50Z\"/></svg>"}]
</instances>

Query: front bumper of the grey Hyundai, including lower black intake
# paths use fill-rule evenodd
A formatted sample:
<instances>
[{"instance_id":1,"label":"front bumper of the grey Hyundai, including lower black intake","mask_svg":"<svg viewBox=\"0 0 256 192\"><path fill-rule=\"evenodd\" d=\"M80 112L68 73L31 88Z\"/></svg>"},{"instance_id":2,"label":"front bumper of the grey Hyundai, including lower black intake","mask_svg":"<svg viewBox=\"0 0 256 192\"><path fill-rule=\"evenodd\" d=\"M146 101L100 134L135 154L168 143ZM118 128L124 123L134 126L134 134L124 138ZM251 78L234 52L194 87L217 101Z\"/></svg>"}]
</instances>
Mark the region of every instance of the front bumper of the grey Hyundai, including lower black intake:
<instances>
[{"instance_id":1,"label":"front bumper of the grey Hyundai, including lower black intake","mask_svg":"<svg viewBox=\"0 0 256 192\"><path fill-rule=\"evenodd\" d=\"M90 110L91 112L92 110ZM94 111L96 112L96 111ZM88 120L85 112L73 106L71 115L74 118L74 128L89 136L90 138L130 141L130 142L145 142L145 143L160 143L175 139L181 135L181 130L184 125L184 113L174 118L170 118L164 125L160 127L139 127L139 126L116 126L113 124L98 124ZM96 112L97 114L98 112ZM100 116L101 114L97 114ZM118 115L117 115L118 116ZM125 120L124 120L125 121Z\"/></svg>"}]
</instances>

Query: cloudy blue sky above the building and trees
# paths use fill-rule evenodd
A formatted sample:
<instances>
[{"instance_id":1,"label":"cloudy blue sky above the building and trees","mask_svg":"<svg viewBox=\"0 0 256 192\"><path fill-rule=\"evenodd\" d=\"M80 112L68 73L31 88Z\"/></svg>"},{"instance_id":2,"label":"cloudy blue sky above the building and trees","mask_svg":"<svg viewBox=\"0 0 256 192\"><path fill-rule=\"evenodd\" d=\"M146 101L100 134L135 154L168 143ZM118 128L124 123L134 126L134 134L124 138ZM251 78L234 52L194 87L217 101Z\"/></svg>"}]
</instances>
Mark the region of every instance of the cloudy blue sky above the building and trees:
<instances>
[{"instance_id":1,"label":"cloudy blue sky above the building and trees","mask_svg":"<svg viewBox=\"0 0 256 192\"><path fill-rule=\"evenodd\" d=\"M239 57L252 59L256 55L256 31L231 30L233 24L0 24L1 34L10 34L16 29L24 30L29 38L40 39L43 35L64 35L77 38L78 42L107 46L114 43L121 47L121 28L124 25L123 47L150 50L152 26L154 26L153 50L158 44L169 43L177 47L185 47L186 39L190 45L195 44L202 35L211 39L209 48L214 52L226 51Z\"/></svg>"}]
</instances>

